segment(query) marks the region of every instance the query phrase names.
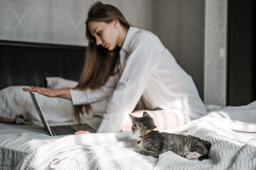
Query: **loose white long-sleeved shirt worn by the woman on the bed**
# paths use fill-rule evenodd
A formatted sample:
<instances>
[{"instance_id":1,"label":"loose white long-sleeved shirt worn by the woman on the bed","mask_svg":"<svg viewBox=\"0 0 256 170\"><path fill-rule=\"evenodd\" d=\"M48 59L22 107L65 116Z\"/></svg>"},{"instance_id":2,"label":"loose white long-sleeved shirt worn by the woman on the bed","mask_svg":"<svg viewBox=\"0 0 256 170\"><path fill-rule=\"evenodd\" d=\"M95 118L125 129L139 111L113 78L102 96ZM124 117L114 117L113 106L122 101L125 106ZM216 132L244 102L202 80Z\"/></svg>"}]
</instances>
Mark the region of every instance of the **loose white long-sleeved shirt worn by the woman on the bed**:
<instances>
[{"instance_id":1,"label":"loose white long-sleeved shirt worn by the woman on the bed","mask_svg":"<svg viewBox=\"0 0 256 170\"><path fill-rule=\"evenodd\" d=\"M110 97L97 132L119 132L141 97L148 110L174 111L186 122L206 114L191 77L149 31L129 28L120 50L119 71L100 89L70 89L74 105Z\"/></svg>"}]
</instances>

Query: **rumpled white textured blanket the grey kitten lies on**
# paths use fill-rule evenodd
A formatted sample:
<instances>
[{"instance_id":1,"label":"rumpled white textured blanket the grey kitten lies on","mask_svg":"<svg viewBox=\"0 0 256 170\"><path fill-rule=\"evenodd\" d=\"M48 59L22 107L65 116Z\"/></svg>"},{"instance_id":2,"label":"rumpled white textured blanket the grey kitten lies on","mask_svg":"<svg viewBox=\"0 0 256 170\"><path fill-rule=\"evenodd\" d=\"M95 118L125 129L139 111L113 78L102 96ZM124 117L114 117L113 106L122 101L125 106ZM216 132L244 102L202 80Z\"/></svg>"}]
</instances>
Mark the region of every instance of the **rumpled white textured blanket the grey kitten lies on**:
<instances>
[{"instance_id":1,"label":"rumpled white textured blanket the grey kitten lies on","mask_svg":"<svg viewBox=\"0 0 256 170\"><path fill-rule=\"evenodd\" d=\"M30 152L17 169L256 169L256 101L213 111L166 132L209 141L209 159L188 160L173 152L146 157L133 151L131 132L120 132L56 139Z\"/></svg>"}]
</instances>

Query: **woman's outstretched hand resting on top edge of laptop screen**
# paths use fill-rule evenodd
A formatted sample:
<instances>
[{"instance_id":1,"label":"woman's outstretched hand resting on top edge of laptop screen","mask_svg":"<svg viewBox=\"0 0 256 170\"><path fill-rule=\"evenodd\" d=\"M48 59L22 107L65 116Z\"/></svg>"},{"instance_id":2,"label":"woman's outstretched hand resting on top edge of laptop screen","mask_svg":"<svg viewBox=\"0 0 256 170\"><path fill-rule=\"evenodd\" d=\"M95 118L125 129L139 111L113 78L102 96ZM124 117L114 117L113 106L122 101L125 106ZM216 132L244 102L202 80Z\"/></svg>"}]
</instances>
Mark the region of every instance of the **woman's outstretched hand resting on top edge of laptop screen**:
<instances>
[{"instance_id":1,"label":"woman's outstretched hand resting on top edge of laptop screen","mask_svg":"<svg viewBox=\"0 0 256 170\"><path fill-rule=\"evenodd\" d=\"M33 91L48 97L60 97L60 98L71 99L71 94L69 89L48 89L45 87L38 88L35 86L31 86L31 88L23 88L23 91Z\"/></svg>"}]
</instances>

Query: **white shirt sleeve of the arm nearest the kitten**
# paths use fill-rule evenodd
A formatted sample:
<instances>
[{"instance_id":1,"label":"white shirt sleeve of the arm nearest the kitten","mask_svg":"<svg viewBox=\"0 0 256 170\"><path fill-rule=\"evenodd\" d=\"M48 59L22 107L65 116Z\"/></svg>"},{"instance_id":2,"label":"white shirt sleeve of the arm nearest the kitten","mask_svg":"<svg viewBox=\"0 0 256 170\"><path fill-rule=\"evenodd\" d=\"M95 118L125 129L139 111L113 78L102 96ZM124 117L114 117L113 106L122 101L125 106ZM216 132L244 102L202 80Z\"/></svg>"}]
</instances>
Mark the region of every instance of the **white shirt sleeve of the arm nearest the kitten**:
<instances>
[{"instance_id":1,"label":"white shirt sleeve of the arm nearest the kitten","mask_svg":"<svg viewBox=\"0 0 256 170\"><path fill-rule=\"evenodd\" d=\"M134 38L129 57L117 88L103 115L97 132L119 132L132 113L148 84L151 73L159 63L159 48L153 38Z\"/></svg>"}]
</instances>

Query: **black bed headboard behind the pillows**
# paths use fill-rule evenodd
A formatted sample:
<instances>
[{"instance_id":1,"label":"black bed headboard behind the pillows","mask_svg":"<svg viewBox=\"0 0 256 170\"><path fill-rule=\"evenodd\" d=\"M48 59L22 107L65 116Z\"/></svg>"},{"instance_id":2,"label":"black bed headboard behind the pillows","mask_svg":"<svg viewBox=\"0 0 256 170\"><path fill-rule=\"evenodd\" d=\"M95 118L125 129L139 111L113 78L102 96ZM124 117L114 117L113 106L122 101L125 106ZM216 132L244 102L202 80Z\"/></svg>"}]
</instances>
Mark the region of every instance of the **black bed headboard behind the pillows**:
<instances>
[{"instance_id":1,"label":"black bed headboard behind the pillows","mask_svg":"<svg viewBox=\"0 0 256 170\"><path fill-rule=\"evenodd\" d=\"M78 81L86 47L0 40L0 89L46 86L46 77Z\"/></svg>"}]
</instances>

